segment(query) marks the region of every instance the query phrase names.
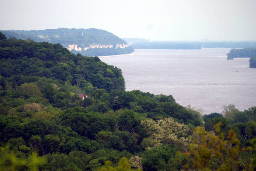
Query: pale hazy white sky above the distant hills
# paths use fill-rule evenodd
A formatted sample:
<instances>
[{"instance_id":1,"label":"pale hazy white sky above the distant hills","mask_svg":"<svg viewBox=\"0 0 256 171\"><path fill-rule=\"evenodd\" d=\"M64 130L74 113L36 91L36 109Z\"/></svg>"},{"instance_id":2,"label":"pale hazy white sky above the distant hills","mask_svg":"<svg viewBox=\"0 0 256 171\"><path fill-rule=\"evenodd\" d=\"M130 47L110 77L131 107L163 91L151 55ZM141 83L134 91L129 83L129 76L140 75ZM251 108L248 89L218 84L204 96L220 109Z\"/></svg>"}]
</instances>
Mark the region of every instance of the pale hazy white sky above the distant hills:
<instances>
[{"instance_id":1,"label":"pale hazy white sky above the distant hills","mask_svg":"<svg viewBox=\"0 0 256 171\"><path fill-rule=\"evenodd\" d=\"M256 40L256 0L0 0L0 30L99 28L152 40Z\"/></svg>"}]
</instances>

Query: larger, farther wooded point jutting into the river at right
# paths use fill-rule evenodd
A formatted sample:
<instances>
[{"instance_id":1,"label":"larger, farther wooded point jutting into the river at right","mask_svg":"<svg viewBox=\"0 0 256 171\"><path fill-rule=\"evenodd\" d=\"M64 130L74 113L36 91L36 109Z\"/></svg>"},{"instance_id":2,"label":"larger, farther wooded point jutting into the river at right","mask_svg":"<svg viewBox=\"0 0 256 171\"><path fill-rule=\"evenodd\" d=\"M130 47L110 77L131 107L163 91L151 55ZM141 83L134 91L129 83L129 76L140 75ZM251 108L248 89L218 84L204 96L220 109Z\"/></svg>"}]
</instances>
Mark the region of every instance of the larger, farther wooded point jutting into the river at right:
<instances>
[{"instance_id":1,"label":"larger, farther wooded point jutting into the river at right","mask_svg":"<svg viewBox=\"0 0 256 171\"><path fill-rule=\"evenodd\" d=\"M256 48L231 49L227 53L227 59L250 58L256 56Z\"/></svg>"}]
</instances>

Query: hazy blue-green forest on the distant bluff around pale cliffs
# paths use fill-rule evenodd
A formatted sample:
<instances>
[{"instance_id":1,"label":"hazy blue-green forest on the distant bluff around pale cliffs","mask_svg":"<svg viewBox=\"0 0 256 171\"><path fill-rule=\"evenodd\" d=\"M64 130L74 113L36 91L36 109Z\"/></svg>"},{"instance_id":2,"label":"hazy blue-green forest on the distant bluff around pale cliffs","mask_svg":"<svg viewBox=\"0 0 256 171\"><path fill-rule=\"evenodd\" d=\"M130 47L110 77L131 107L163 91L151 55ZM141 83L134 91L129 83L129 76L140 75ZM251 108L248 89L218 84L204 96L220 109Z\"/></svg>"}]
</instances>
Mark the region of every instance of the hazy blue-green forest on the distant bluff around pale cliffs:
<instances>
[{"instance_id":1,"label":"hazy blue-green forest on the distant bluff around pale cliffs","mask_svg":"<svg viewBox=\"0 0 256 171\"><path fill-rule=\"evenodd\" d=\"M117 44L127 43L116 35L101 29L45 29L45 30L2 30L7 38L22 40L32 39L36 42L59 43L64 47L70 44L81 47L81 51L72 50L74 54L80 53L85 56L103 56L128 54L134 51L133 47L115 48ZM89 48L90 45L109 45L112 48Z\"/></svg>"}]
</instances>

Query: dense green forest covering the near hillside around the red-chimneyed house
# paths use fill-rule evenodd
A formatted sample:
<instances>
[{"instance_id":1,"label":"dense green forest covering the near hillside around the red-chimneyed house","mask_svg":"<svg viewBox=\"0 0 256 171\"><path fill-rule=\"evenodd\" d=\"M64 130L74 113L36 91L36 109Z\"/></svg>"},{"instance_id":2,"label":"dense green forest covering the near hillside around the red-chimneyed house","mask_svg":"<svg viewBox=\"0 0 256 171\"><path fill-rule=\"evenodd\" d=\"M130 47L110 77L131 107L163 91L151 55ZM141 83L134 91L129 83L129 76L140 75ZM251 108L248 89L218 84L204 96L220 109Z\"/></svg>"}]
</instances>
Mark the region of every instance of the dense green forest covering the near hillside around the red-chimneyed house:
<instances>
[{"instance_id":1,"label":"dense green forest covering the near hillside around the red-chimneyed house","mask_svg":"<svg viewBox=\"0 0 256 171\"><path fill-rule=\"evenodd\" d=\"M256 106L202 116L60 44L0 32L0 102L0 170L255 169Z\"/></svg>"}]
</instances>

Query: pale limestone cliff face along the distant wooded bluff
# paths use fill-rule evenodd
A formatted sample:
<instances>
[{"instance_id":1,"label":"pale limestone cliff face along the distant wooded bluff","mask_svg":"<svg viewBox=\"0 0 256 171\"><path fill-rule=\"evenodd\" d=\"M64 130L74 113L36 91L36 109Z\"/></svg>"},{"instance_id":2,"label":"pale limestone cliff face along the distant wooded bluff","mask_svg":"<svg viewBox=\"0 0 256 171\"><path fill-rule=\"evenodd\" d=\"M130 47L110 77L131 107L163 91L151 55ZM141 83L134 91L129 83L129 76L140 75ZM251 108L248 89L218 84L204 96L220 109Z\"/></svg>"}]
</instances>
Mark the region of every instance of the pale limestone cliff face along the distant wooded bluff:
<instances>
[{"instance_id":1,"label":"pale limestone cliff face along the distant wooded bluff","mask_svg":"<svg viewBox=\"0 0 256 171\"><path fill-rule=\"evenodd\" d=\"M129 47L130 45L128 45L128 44L116 44L116 49L117 48L122 48L122 49L125 49L125 47ZM113 45L101 45L101 44L92 44L92 45L90 45L90 46L88 46L88 47L83 47L83 50L87 50L87 49L89 49L89 48L113 48ZM78 47L78 45L77 44L69 44L68 45L68 47L67 47L67 49L68 50L72 50L72 49L74 49L74 50L76 50L76 51L82 51L82 48L81 47Z\"/></svg>"}]
</instances>

